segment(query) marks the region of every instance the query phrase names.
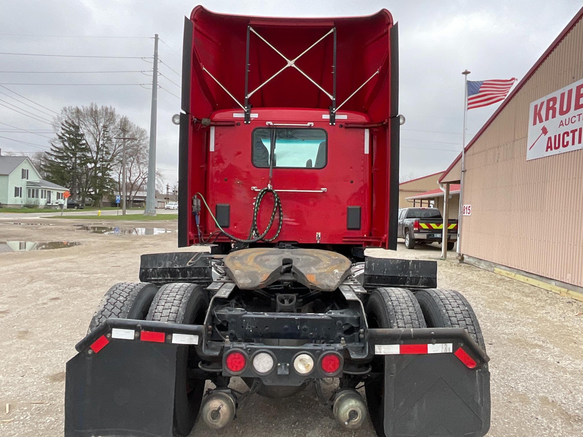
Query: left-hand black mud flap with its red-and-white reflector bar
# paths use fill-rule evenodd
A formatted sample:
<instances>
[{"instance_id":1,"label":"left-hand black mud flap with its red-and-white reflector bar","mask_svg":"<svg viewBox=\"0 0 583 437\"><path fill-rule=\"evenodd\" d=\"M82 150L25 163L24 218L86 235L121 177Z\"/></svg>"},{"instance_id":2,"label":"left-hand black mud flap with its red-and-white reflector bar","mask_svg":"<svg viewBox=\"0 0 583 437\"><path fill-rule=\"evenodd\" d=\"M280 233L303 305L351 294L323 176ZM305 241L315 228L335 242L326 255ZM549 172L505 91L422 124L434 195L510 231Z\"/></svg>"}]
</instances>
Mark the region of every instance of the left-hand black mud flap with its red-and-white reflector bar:
<instances>
[{"instance_id":1,"label":"left-hand black mud flap with its red-and-white reflector bar","mask_svg":"<svg viewBox=\"0 0 583 437\"><path fill-rule=\"evenodd\" d=\"M115 327L131 335L113 338ZM199 330L123 319L98 326L66 365L65 437L173 437L177 354L187 346L172 336Z\"/></svg>"}]
</instances>

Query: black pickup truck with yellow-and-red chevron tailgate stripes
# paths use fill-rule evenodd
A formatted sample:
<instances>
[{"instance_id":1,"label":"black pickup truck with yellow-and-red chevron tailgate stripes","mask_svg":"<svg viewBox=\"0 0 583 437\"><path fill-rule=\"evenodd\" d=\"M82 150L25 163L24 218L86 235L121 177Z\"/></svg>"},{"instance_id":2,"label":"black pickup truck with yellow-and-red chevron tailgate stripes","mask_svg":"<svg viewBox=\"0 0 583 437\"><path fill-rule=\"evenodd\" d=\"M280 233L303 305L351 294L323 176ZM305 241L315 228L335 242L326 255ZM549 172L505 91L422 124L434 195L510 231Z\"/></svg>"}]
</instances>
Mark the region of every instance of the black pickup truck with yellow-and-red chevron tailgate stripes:
<instances>
[{"instance_id":1,"label":"black pickup truck with yellow-and-red chevron tailgate stripes","mask_svg":"<svg viewBox=\"0 0 583 437\"><path fill-rule=\"evenodd\" d=\"M403 208L399 210L397 237L405 238L405 247L414 249L415 244L441 243L443 217L437 208ZM458 220L447 222L447 250L454 248L458 239Z\"/></svg>"}]
</instances>

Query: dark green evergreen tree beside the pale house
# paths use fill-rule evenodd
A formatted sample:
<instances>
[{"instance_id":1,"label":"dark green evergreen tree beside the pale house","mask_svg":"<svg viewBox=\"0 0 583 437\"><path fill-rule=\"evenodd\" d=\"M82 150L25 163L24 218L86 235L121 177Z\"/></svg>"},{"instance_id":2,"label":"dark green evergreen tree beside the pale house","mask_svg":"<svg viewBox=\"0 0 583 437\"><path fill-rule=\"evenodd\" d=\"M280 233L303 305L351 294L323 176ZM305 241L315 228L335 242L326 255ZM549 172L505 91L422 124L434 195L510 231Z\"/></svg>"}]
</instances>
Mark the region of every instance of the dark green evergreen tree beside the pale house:
<instances>
[{"instance_id":1,"label":"dark green evergreen tree beside the pale house","mask_svg":"<svg viewBox=\"0 0 583 437\"><path fill-rule=\"evenodd\" d=\"M80 199L85 200L92 178L88 168L91 153L85 136L79 125L65 120L61 123L57 138L59 143L51 143L51 150L47 152L41 168L51 182L69 188L72 199L78 194Z\"/></svg>"}]
</instances>

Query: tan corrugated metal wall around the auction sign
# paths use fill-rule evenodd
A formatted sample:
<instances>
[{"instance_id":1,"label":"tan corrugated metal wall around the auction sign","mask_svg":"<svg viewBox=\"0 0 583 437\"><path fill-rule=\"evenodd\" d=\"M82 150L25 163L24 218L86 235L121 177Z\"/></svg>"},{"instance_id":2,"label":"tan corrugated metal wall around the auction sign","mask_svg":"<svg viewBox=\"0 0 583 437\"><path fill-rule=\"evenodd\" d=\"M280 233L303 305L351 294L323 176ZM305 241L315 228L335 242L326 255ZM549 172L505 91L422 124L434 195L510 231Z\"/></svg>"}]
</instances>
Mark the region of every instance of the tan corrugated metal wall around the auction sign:
<instances>
[{"instance_id":1,"label":"tan corrugated metal wall around the auction sign","mask_svg":"<svg viewBox=\"0 0 583 437\"><path fill-rule=\"evenodd\" d=\"M464 255L583 286L583 150L526 161L531 102L582 78L580 19L466 152Z\"/></svg>"}]
</instances>

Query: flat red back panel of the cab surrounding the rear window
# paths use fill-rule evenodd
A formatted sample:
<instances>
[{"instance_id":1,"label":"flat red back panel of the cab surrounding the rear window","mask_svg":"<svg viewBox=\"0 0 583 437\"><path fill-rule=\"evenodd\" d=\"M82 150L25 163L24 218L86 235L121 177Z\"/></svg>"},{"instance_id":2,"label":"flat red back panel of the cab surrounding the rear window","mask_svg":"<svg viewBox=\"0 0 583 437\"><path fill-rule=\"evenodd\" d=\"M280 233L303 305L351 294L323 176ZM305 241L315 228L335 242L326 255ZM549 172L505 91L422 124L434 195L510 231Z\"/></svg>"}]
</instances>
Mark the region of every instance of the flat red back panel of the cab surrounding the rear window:
<instances>
[{"instance_id":1,"label":"flat red back panel of the cab surrounding the rear window","mask_svg":"<svg viewBox=\"0 0 583 437\"><path fill-rule=\"evenodd\" d=\"M266 121L279 121L282 111L257 110L258 117L250 125L215 126L214 151L208 154L205 198L215 212L217 203L230 204L230 227L227 232L247 238L251 226L253 204L257 192L251 187L265 188L269 168L257 168L251 162L251 136L256 128L265 128ZM283 111L285 112L285 110ZM298 111L293 111L299 123ZM273 188L319 190L326 192L280 192L283 226L278 241L297 241L304 244L341 244L344 237L370 236L371 224L371 154L364 153L364 129L345 129L340 124L330 126L322 119L323 111L305 110L304 122L313 122L312 129L324 129L328 136L326 166L315 168L274 168ZM218 116L219 114L217 114ZM230 114L222 114L223 117ZM362 115L349 115L363 119ZM220 117L217 117L220 118ZM209 147L210 149L210 147ZM361 207L361 229L346 229L346 207ZM266 196L258 216L259 231L265 229L271 216L273 202ZM209 214L205 214L205 233L216 230ZM271 237L276 224L272 227Z\"/></svg>"}]
</instances>

